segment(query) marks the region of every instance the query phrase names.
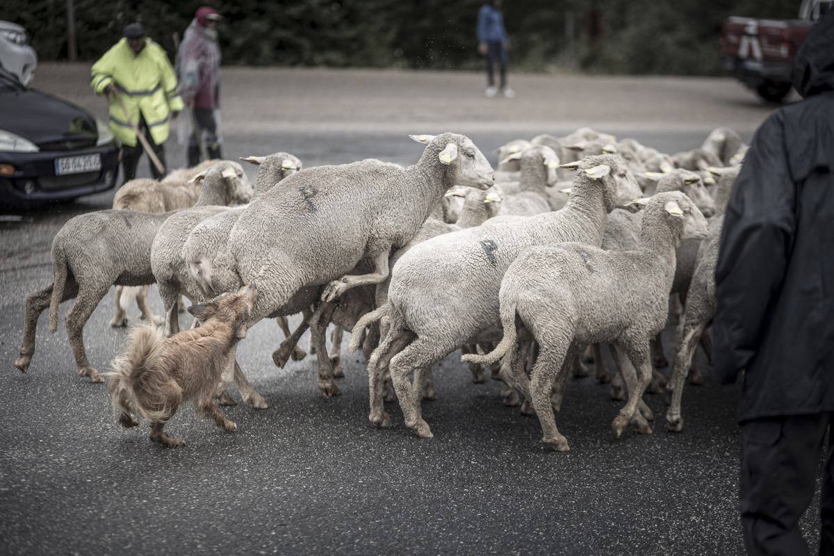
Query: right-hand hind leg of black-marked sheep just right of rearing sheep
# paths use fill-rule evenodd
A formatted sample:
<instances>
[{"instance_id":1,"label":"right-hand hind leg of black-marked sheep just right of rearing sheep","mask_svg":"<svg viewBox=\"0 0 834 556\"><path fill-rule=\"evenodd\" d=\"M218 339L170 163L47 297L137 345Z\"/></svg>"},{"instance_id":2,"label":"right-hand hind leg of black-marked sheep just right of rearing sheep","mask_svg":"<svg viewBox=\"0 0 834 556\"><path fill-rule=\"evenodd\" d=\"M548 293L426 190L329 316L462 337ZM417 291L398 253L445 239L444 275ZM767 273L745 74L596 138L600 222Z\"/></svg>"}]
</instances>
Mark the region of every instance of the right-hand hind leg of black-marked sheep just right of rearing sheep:
<instances>
[{"instance_id":1,"label":"right-hand hind leg of black-marked sheep just right of rearing sheep","mask_svg":"<svg viewBox=\"0 0 834 556\"><path fill-rule=\"evenodd\" d=\"M411 394L412 385L409 383L409 375L420 368L430 367L456 348L457 346L453 346L450 350L443 351L440 343L417 338L391 358L389 364L391 382L394 383L399 407L403 411L405 426L412 429L420 438L432 438L434 435L431 433L429 423L423 420L420 403L416 403Z\"/></svg>"}]
</instances>

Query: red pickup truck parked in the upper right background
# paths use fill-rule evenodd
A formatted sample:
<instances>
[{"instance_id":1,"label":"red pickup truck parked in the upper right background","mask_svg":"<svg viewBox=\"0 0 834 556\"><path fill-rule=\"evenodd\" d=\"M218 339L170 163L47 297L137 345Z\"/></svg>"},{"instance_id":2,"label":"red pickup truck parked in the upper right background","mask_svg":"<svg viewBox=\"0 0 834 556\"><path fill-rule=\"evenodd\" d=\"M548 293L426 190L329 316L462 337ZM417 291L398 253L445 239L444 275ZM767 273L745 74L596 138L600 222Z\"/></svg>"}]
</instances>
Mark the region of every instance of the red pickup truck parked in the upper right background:
<instances>
[{"instance_id":1,"label":"red pickup truck parked in the upper right background","mask_svg":"<svg viewBox=\"0 0 834 556\"><path fill-rule=\"evenodd\" d=\"M791 92L796 51L834 0L803 0L798 19L727 18L721 28L721 66L771 103Z\"/></svg>"}]
</instances>

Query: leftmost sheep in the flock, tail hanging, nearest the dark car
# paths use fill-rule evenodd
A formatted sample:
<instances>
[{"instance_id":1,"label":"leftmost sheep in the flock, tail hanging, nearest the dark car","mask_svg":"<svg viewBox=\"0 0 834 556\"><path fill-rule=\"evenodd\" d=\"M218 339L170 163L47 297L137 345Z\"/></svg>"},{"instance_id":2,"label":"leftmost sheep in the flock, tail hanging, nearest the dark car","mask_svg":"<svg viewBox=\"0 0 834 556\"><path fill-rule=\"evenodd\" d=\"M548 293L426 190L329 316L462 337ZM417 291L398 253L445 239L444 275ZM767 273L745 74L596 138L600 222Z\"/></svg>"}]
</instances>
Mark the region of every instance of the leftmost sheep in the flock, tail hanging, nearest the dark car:
<instances>
[{"instance_id":1,"label":"leftmost sheep in the flock, tail hanging, nearest the dark car","mask_svg":"<svg viewBox=\"0 0 834 556\"><path fill-rule=\"evenodd\" d=\"M226 162L218 165L229 164ZM229 168L230 169L230 168ZM222 173L220 173L222 175ZM236 173L203 184L197 205L249 202L249 180ZM58 306L75 298L65 322L78 375L103 382L84 350L83 327L111 285L153 283L151 243L159 227L173 214L132 210L102 210L80 214L63 225L53 239L53 283L26 298L23 346L15 367L26 373L35 352L38 316L49 308L49 330L58 329Z\"/></svg>"}]
</instances>

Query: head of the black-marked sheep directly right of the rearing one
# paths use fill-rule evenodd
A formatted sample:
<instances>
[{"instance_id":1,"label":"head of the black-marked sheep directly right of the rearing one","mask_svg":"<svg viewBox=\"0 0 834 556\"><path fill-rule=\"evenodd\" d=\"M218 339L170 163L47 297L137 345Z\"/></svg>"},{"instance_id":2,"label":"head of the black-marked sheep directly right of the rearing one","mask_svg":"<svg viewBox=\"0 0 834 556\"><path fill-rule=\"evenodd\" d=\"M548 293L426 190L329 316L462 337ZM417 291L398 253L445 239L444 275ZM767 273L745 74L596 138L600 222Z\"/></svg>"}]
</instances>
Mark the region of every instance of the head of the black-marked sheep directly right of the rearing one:
<instances>
[{"instance_id":1,"label":"head of the black-marked sheep directly right of the rearing one","mask_svg":"<svg viewBox=\"0 0 834 556\"><path fill-rule=\"evenodd\" d=\"M618 206L628 205L643 194L628 164L615 154L585 157L575 163L562 164L560 168L577 171L573 188L588 183L588 180L601 183L605 210L609 213Z\"/></svg>"}]
</instances>

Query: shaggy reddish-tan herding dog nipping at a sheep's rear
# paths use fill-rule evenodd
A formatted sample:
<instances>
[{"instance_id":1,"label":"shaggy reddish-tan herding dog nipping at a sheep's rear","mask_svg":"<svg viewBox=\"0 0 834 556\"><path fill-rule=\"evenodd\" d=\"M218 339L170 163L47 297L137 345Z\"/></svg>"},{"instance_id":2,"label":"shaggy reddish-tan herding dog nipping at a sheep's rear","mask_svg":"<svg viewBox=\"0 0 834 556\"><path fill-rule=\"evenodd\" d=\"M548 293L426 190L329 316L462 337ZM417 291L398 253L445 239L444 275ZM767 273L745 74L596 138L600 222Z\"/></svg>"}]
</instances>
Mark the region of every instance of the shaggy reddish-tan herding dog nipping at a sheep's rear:
<instances>
[{"instance_id":1,"label":"shaggy reddish-tan herding dog nipping at a sheep's rear","mask_svg":"<svg viewBox=\"0 0 834 556\"><path fill-rule=\"evenodd\" d=\"M182 438L169 438L163 428L180 404L193 399L197 413L233 431L235 424L226 419L214 396L229 350L246 336L257 297L257 288L249 285L192 305L188 313L200 326L169 338L153 325L133 328L128 351L113 360L113 371L106 375L118 423L135 427L139 422L131 413L136 414L150 422L151 441L182 446Z\"/></svg>"}]
</instances>

